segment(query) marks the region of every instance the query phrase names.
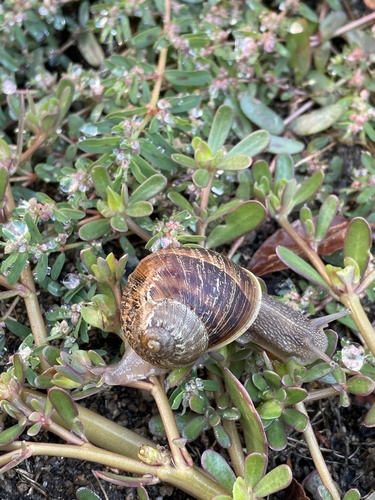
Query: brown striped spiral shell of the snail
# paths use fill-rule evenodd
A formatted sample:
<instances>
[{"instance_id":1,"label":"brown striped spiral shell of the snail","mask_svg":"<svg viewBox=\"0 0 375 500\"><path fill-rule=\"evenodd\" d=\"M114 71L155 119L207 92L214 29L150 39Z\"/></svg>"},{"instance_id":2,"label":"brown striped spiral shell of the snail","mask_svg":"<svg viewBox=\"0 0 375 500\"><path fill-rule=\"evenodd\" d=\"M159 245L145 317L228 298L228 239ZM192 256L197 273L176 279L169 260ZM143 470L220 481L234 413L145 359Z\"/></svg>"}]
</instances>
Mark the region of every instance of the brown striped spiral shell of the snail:
<instances>
[{"instance_id":1,"label":"brown striped spiral shell of the snail","mask_svg":"<svg viewBox=\"0 0 375 500\"><path fill-rule=\"evenodd\" d=\"M122 300L124 335L149 363L188 366L242 335L258 315L256 277L203 248L168 248L143 259Z\"/></svg>"}]
</instances>

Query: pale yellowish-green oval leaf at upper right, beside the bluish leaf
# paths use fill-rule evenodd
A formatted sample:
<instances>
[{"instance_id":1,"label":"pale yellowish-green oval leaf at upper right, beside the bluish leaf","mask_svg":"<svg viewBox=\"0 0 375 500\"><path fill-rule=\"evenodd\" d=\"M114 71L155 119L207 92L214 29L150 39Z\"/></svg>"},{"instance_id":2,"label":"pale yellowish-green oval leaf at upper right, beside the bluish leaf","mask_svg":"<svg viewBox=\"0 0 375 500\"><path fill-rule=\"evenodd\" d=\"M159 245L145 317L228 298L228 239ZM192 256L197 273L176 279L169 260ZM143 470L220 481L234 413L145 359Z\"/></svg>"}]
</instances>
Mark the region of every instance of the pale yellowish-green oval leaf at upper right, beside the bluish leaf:
<instances>
[{"instance_id":1,"label":"pale yellowish-green oval leaf at upper right, beside the bluish leaf","mask_svg":"<svg viewBox=\"0 0 375 500\"><path fill-rule=\"evenodd\" d=\"M342 102L325 106L311 113L298 116L292 121L290 128L297 135L312 135L332 127L344 113Z\"/></svg>"}]
</instances>

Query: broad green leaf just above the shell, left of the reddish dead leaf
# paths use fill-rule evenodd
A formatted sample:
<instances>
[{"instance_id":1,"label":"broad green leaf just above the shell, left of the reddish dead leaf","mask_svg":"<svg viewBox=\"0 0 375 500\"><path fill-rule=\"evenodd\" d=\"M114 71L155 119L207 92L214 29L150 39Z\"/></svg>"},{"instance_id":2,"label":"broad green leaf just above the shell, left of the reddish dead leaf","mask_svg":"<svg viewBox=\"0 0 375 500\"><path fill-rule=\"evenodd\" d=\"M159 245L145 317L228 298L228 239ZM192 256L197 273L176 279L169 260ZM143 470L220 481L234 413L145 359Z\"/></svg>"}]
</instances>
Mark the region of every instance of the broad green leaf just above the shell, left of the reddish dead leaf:
<instances>
[{"instance_id":1,"label":"broad green leaf just above the shell, left of the reddish dead leaf","mask_svg":"<svg viewBox=\"0 0 375 500\"><path fill-rule=\"evenodd\" d=\"M252 231L261 224L266 216L264 206L258 201L246 201L225 218L225 224L216 226L207 238L207 248L214 248L223 243Z\"/></svg>"}]
</instances>

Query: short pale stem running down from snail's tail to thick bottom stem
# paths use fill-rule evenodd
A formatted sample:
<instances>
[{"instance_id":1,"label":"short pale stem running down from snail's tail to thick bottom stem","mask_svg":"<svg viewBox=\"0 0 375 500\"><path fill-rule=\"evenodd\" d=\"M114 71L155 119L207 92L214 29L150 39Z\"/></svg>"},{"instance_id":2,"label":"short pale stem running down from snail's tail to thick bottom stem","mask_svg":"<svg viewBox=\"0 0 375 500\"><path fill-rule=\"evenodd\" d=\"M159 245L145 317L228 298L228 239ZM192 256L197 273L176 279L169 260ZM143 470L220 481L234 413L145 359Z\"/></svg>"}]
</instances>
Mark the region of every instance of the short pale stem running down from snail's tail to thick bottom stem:
<instances>
[{"instance_id":1,"label":"short pale stem running down from snail's tail to thick bottom stem","mask_svg":"<svg viewBox=\"0 0 375 500\"><path fill-rule=\"evenodd\" d=\"M158 377L150 377L150 381L153 383L151 394L155 399L155 403L157 404L161 419L163 421L165 432L167 433L173 462L177 469L188 470L193 466L193 461L185 446L181 447L177 444L178 440L181 439L181 436L178 431L173 412L169 405L167 395L165 394Z\"/></svg>"}]
</instances>

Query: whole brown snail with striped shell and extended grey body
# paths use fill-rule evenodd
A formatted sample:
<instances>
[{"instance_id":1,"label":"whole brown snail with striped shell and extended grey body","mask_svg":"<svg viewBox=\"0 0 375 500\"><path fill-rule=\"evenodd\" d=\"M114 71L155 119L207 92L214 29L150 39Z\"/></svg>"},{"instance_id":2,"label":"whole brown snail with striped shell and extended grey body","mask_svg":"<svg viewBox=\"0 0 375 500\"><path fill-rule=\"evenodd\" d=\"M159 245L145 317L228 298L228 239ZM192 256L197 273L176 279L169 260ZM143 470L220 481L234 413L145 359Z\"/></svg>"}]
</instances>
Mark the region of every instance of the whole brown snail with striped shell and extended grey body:
<instances>
[{"instance_id":1,"label":"whole brown snail with striped shell and extended grey body","mask_svg":"<svg viewBox=\"0 0 375 500\"><path fill-rule=\"evenodd\" d=\"M307 319L262 293L256 276L217 252L160 250L129 276L121 322L131 349L104 381L127 383L189 366L240 336L284 361L334 365L323 328L345 314Z\"/></svg>"}]
</instances>

